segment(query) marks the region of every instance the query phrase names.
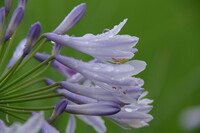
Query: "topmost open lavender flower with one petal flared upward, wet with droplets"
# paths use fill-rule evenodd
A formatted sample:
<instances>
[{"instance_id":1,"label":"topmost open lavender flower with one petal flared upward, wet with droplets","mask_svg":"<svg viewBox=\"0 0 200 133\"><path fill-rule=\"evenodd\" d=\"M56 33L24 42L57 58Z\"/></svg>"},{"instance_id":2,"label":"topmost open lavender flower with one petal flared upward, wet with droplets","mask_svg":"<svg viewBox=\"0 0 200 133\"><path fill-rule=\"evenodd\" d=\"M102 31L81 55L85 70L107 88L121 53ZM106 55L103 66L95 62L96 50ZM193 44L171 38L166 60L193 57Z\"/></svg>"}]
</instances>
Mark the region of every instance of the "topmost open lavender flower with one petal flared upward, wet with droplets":
<instances>
[{"instance_id":1,"label":"topmost open lavender flower with one petal flared upward, wet with droplets","mask_svg":"<svg viewBox=\"0 0 200 133\"><path fill-rule=\"evenodd\" d=\"M115 26L112 30L96 36L86 34L83 37L71 37L68 35L58 35L56 33L46 33L45 36L55 43L77 49L102 62L125 61L134 56L137 49L132 47L138 42L137 37L117 35L126 21L127 19Z\"/></svg>"}]
</instances>

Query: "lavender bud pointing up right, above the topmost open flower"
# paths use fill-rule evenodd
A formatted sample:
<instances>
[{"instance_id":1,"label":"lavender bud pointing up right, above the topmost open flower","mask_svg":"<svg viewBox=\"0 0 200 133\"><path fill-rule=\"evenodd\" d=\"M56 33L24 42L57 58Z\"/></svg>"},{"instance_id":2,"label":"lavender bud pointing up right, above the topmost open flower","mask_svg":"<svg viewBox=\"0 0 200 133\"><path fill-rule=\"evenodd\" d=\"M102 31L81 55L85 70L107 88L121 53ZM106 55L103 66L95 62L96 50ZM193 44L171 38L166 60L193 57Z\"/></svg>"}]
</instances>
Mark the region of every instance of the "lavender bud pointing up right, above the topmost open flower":
<instances>
[{"instance_id":1,"label":"lavender bud pointing up right, above the topmost open flower","mask_svg":"<svg viewBox=\"0 0 200 133\"><path fill-rule=\"evenodd\" d=\"M53 32L57 34L66 33L81 20L81 18L85 14L85 11L86 11L85 3L76 6Z\"/></svg>"}]
</instances>

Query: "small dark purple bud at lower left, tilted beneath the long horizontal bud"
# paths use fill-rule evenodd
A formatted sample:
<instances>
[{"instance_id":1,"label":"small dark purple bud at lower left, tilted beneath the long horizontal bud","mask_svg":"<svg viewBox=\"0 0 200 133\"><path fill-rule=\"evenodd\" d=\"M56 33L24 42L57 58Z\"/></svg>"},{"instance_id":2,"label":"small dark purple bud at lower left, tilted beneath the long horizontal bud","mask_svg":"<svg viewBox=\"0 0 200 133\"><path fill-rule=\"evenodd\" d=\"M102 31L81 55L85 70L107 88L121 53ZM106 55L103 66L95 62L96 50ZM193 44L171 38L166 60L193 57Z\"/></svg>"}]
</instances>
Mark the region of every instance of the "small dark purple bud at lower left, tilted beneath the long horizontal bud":
<instances>
[{"instance_id":1,"label":"small dark purple bud at lower left, tilted beneath the long horizontal bud","mask_svg":"<svg viewBox=\"0 0 200 133\"><path fill-rule=\"evenodd\" d=\"M49 123L52 123L58 116L60 116L64 111L67 106L67 101L66 100L61 100L55 107L50 119L48 120Z\"/></svg>"}]
</instances>

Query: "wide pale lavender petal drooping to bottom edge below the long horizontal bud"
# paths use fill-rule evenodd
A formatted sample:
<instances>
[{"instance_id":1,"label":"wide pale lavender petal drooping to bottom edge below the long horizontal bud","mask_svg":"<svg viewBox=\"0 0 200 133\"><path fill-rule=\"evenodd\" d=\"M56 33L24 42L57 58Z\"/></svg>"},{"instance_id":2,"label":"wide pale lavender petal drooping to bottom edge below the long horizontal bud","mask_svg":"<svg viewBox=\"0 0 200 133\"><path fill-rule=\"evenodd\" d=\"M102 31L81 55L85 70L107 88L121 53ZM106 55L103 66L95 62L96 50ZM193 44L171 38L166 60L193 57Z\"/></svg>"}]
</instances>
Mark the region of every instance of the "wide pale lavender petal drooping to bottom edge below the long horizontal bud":
<instances>
[{"instance_id":1,"label":"wide pale lavender petal drooping to bottom edge below the long horizontal bud","mask_svg":"<svg viewBox=\"0 0 200 133\"><path fill-rule=\"evenodd\" d=\"M106 132L106 126L104 124L104 120L101 117L84 115L77 115L77 117L84 121L86 124L92 126L98 133Z\"/></svg>"}]
</instances>

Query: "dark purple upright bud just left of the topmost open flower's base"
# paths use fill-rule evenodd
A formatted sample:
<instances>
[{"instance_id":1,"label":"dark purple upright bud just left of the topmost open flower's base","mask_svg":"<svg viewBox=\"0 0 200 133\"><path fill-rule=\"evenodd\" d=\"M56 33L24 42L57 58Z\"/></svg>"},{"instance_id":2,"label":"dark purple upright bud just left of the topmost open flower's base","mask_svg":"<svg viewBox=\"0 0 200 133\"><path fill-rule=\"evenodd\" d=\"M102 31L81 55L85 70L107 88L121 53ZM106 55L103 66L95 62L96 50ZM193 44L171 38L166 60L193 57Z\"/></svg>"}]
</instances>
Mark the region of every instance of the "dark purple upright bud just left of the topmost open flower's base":
<instances>
[{"instance_id":1,"label":"dark purple upright bud just left of the topmost open flower's base","mask_svg":"<svg viewBox=\"0 0 200 133\"><path fill-rule=\"evenodd\" d=\"M40 36L41 29L42 27L39 22L31 26L28 36L27 36L27 41L26 41L26 45L24 49L24 55L27 55L31 51L32 47L34 46L34 44L36 43L36 41L38 40Z\"/></svg>"}]
</instances>

